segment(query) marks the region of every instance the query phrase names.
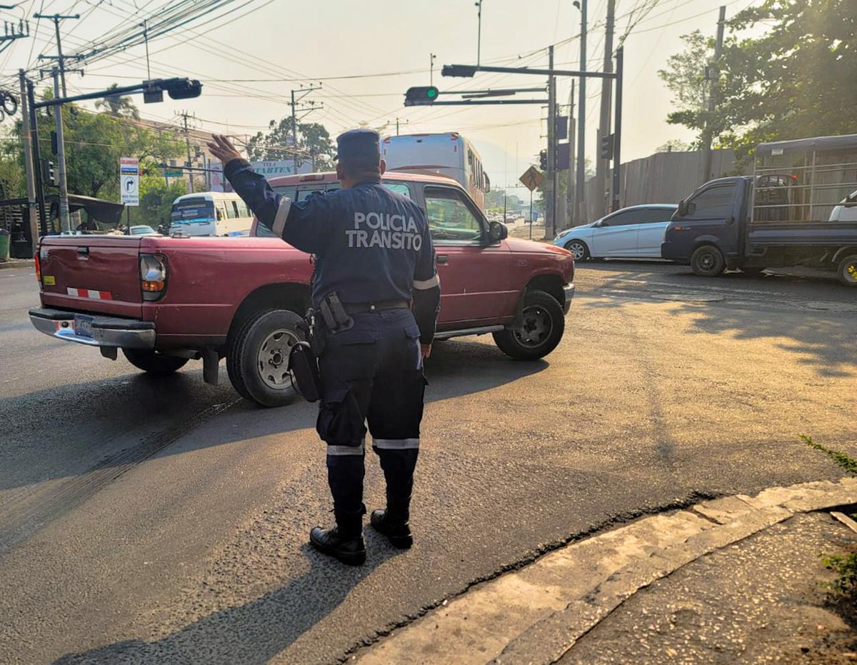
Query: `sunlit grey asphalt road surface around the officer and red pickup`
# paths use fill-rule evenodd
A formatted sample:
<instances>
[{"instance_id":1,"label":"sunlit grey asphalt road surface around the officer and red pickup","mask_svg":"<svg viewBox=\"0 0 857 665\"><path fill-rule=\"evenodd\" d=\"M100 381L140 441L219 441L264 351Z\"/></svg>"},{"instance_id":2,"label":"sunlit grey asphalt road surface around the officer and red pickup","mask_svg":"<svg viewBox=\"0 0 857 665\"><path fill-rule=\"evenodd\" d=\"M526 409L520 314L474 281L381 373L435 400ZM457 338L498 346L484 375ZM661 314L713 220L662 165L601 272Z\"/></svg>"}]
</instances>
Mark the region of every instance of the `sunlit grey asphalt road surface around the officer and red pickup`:
<instances>
[{"instance_id":1,"label":"sunlit grey asphalt road surface around the officer and red pickup","mask_svg":"<svg viewBox=\"0 0 857 665\"><path fill-rule=\"evenodd\" d=\"M337 662L546 548L700 496L836 478L857 454L857 293L586 264L542 362L437 344L415 547L310 551L327 523L314 407L257 410L34 332L0 271L0 662ZM225 381L225 372L222 372ZM367 504L382 477L367 457Z\"/></svg>"}]
</instances>

